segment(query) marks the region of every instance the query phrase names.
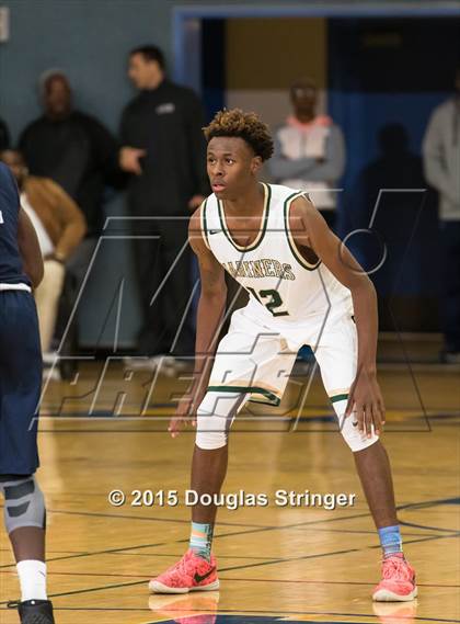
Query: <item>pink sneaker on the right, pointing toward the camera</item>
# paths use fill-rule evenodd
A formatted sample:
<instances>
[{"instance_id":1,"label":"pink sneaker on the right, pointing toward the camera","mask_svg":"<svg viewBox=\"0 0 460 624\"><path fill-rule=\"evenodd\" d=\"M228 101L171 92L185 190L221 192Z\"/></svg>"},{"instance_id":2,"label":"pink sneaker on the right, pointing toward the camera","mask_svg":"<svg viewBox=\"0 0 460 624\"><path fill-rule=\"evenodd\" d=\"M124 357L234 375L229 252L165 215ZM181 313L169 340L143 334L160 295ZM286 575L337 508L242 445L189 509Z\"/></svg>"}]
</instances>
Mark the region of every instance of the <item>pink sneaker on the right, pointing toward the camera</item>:
<instances>
[{"instance_id":1,"label":"pink sneaker on the right, pointing toward the camera","mask_svg":"<svg viewBox=\"0 0 460 624\"><path fill-rule=\"evenodd\" d=\"M382 561L382 580L375 588L376 602L406 602L417 597L415 571L403 555L393 555Z\"/></svg>"}]
</instances>

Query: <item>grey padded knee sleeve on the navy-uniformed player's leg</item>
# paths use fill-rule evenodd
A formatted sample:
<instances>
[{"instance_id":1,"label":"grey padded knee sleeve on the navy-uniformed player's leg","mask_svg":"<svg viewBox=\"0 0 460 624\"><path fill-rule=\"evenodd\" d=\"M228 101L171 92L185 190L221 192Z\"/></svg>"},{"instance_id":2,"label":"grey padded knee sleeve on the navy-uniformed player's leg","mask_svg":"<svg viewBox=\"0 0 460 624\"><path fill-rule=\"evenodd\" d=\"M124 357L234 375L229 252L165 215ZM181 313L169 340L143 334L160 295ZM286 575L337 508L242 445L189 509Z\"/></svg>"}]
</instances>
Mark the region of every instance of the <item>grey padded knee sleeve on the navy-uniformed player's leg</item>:
<instances>
[{"instance_id":1,"label":"grey padded knee sleeve on the navy-uniformed player's leg","mask_svg":"<svg viewBox=\"0 0 460 624\"><path fill-rule=\"evenodd\" d=\"M45 498L33 475L0 478L8 533L24 526L45 529Z\"/></svg>"}]
</instances>

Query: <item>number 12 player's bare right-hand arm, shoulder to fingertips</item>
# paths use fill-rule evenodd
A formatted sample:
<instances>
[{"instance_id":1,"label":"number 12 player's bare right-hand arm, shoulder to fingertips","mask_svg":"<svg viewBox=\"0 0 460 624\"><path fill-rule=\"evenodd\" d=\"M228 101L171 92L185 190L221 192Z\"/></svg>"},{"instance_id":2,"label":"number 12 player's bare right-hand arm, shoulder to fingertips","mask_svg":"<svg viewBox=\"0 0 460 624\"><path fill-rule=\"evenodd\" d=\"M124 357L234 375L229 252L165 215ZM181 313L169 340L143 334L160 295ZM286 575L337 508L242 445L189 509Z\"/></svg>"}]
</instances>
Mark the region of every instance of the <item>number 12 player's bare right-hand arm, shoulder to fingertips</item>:
<instances>
[{"instance_id":1,"label":"number 12 player's bare right-hand arm, shoulder to fingertips","mask_svg":"<svg viewBox=\"0 0 460 624\"><path fill-rule=\"evenodd\" d=\"M377 382L377 295L372 282L342 241L329 229L307 198L297 198L290 211L290 229L304 253L314 253L353 297L358 332L357 375L349 392L346 416L356 412L359 430L371 435L384 424L384 405Z\"/></svg>"}]
</instances>

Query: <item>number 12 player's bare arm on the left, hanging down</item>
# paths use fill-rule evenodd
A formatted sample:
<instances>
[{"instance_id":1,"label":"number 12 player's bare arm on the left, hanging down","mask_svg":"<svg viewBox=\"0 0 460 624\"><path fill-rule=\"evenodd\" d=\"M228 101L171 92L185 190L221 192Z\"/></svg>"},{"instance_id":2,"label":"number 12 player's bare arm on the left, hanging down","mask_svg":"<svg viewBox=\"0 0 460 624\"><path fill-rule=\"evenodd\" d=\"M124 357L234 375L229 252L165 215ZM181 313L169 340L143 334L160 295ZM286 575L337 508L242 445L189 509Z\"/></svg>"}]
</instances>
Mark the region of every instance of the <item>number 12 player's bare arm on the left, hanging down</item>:
<instances>
[{"instance_id":1,"label":"number 12 player's bare arm on the left, hanging down","mask_svg":"<svg viewBox=\"0 0 460 624\"><path fill-rule=\"evenodd\" d=\"M193 418L206 394L227 302L225 270L203 239L199 209L191 218L188 241L198 259L202 291L196 325L194 383L191 395L180 401L171 419L169 431L173 438L189 417Z\"/></svg>"}]
</instances>

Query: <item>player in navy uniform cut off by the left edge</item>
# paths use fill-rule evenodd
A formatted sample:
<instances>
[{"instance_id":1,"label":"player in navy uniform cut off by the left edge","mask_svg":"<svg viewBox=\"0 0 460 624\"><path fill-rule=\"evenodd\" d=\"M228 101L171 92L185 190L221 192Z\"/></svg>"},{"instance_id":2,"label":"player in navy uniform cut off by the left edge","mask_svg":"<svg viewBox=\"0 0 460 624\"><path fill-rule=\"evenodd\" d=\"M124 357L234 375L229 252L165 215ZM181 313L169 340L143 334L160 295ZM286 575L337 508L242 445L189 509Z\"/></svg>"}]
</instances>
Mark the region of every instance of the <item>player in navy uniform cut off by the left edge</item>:
<instances>
[{"instance_id":1,"label":"player in navy uniform cut off by the left edge","mask_svg":"<svg viewBox=\"0 0 460 624\"><path fill-rule=\"evenodd\" d=\"M55 622L46 594L45 501L34 476L42 354L32 288L42 277L35 230L0 162L0 490L21 585L21 624Z\"/></svg>"}]
</instances>

